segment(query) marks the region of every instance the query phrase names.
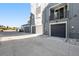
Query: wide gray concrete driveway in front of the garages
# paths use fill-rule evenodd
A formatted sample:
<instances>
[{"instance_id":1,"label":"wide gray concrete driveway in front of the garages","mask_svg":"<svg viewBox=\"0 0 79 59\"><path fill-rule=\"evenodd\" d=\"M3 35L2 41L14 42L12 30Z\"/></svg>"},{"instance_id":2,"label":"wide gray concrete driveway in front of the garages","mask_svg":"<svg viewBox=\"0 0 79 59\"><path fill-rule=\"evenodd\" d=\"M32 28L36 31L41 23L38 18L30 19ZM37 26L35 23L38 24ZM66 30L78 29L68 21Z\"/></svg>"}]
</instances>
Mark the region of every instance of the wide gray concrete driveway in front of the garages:
<instances>
[{"instance_id":1,"label":"wide gray concrete driveway in front of the garages","mask_svg":"<svg viewBox=\"0 0 79 59\"><path fill-rule=\"evenodd\" d=\"M3 37L5 41L1 41L0 56L79 56L79 46L66 43L64 38L21 36L18 40L16 36L7 38L9 40Z\"/></svg>"}]
</instances>

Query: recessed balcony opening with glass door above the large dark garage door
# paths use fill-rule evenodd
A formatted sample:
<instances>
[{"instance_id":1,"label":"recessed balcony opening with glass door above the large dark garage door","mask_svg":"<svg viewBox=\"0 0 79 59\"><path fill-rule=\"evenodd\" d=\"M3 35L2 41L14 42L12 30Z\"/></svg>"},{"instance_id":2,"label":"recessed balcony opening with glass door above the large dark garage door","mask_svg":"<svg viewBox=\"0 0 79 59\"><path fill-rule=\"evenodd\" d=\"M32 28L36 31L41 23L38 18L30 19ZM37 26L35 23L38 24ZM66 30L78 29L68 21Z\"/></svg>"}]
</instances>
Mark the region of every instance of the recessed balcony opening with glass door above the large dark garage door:
<instances>
[{"instance_id":1,"label":"recessed balcony opening with glass door above the large dark garage door","mask_svg":"<svg viewBox=\"0 0 79 59\"><path fill-rule=\"evenodd\" d=\"M67 5L64 5L60 8L54 9L51 8L52 10L50 10L50 16L52 20L54 19L62 19L62 18L67 18L68 16L68 11L67 11Z\"/></svg>"}]
</instances>

